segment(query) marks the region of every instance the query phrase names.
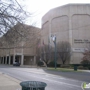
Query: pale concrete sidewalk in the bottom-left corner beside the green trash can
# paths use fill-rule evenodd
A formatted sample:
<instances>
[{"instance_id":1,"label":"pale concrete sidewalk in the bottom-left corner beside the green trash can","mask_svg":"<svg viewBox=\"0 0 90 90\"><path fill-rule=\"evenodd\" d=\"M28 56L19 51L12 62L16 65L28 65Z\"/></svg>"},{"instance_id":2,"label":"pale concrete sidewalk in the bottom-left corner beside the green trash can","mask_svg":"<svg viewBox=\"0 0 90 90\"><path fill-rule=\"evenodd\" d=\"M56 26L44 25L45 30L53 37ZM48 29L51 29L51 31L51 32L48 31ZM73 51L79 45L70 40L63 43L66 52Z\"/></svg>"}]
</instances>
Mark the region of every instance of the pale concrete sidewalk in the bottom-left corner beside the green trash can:
<instances>
[{"instance_id":1,"label":"pale concrete sidewalk in the bottom-left corner beside the green trash can","mask_svg":"<svg viewBox=\"0 0 90 90\"><path fill-rule=\"evenodd\" d=\"M20 81L0 72L0 90L21 90Z\"/></svg>"}]
</instances>

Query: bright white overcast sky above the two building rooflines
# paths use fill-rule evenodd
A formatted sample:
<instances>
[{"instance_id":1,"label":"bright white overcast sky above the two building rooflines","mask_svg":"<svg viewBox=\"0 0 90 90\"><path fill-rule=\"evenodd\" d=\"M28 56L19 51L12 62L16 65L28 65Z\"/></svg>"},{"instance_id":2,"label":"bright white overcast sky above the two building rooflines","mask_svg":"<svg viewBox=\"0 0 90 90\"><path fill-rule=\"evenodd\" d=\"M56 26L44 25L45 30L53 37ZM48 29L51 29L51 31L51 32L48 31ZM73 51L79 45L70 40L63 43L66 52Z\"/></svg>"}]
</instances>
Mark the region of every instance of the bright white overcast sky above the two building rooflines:
<instances>
[{"instance_id":1,"label":"bright white overcast sky above the two building rooflines","mask_svg":"<svg viewBox=\"0 0 90 90\"><path fill-rule=\"evenodd\" d=\"M87 3L90 4L90 0L18 0L23 6L25 6L25 10L28 12L32 12L35 15L31 17L32 19L28 19L27 23L29 24L32 21L38 20L38 27L41 24L42 16L48 12L50 9L62 6L69 3Z\"/></svg>"}]
</instances>

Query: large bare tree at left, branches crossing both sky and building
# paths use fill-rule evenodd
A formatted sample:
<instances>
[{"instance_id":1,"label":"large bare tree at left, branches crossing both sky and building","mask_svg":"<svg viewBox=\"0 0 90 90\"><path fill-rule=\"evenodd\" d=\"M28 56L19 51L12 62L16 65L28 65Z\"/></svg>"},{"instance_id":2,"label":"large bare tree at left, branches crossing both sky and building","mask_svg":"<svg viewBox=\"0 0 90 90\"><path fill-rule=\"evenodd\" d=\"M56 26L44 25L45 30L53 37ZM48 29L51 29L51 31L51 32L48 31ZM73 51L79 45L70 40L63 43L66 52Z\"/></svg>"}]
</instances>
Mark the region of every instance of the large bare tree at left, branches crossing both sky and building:
<instances>
[{"instance_id":1,"label":"large bare tree at left, branches crossing both sky and building","mask_svg":"<svg viewBox=\"0 0 90 90\"><path fill-rule=\"evenodd\" d=\"M0 0L0 34L3 35L0 49L10 54L10 48L16 47L17 43L25 41L29 35L34 37L32 32L28 33L30 27L23 24L29 16L31 14L24 11L17 0Z\"/></svg>"}]
</instances>

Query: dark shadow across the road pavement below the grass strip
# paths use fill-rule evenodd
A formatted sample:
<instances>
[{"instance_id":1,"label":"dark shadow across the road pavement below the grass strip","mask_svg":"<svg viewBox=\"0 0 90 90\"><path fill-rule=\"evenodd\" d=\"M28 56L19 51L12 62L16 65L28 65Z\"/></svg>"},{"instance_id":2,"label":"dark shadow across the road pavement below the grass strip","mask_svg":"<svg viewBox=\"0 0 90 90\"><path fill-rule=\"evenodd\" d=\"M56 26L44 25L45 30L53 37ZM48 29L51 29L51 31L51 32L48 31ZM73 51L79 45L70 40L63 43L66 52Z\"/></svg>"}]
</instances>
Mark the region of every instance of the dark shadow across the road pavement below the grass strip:
<instances>
[{"instance_id":1,"label":"dark shadow across the road pavement below the grass strip","mask_svg":"<svg viewBox=\"0 0 90 90\"><path fill-rule=\"evenodd\" d=\"M62 71L54 71L48 69L43 69L43 70L48 74L58 75L61 77L90 83L90 73L88 72L62 72Z\"/></svg>"}]
</instances>

